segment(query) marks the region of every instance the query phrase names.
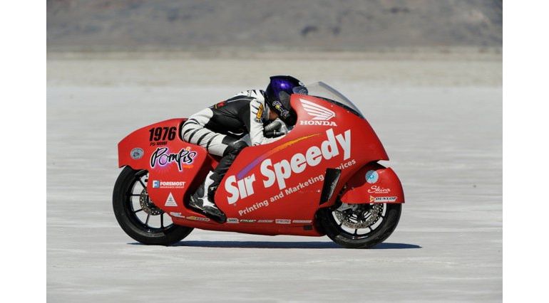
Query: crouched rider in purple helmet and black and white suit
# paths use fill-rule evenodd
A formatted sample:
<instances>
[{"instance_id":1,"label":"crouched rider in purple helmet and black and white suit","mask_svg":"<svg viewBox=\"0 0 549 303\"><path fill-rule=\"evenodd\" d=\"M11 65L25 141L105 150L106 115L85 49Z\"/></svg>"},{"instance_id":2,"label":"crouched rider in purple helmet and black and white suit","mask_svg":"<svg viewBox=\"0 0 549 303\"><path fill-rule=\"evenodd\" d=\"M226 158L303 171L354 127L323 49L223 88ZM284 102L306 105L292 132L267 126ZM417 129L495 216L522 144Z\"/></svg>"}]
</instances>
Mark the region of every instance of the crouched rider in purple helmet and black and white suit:
<instances>
[{"instance_id":1,"label":"crouched rider in purple helmet and black and white suit","mask_svg":"<svg viewBox=\"0 0 549 303\"><path fill-rule=\"evenodd\" d=\"M289 75L272 76L265 91L240 92L189 117L181 129L185 142L200 145L210 154L222 156L214 171L207 174L205 182L190 196L189 206L217 222L225 222L225 214L215 206L214 194L232 162L248 146L242 137L250 134L252 145L267 144L282 138L265 137L265 126L275 119L281 119L289 126L295 124L296 115L289 105L289 95L294 92L307 93L307 88ZM282 133L287 132L286 125L280 125Z\"/></svg>"}]
</instances>

